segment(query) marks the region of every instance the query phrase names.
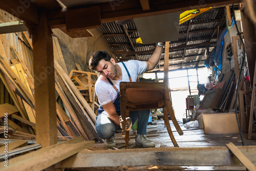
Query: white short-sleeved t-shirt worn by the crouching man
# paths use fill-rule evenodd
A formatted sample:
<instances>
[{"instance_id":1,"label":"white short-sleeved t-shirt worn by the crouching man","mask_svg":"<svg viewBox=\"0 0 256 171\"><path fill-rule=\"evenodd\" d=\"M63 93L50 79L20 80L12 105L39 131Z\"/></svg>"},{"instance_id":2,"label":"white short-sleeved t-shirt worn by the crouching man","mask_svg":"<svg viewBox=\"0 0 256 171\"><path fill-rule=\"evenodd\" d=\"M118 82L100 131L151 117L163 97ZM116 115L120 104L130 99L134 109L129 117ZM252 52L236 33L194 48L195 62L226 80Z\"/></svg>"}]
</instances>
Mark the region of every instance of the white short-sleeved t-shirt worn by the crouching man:
<instances>
[{"instance_id":1,"label":"white short-sleeved t-shirt worn by the crouching man","mask_svg":"<svg viewBox=\"0 0 256 171\"><path fill-rule=\"evenodd\" d=\"M126 62L123 62L124 65L126 66L127 70L129 71L131 78L133 82L136 82L137 76L141 73L143 73L146 70L146 62L145 61L138 61L138 60L129 60ZM120 91L119 88L119 83L120 82L125 82L125 81L130 81L129 76L122 65L122 63L117 63L119 67L122 70L122 78L120 80L113 80L110 78L110 80L113 82L113 84L116 86L118 91ZM100 75L96 84L95 84L95 91L99 99L100 105L107 104L109 102L114 102L117 93L115 89L112 87L108 79L106 77Z\"/></svg>"}]
</instances>

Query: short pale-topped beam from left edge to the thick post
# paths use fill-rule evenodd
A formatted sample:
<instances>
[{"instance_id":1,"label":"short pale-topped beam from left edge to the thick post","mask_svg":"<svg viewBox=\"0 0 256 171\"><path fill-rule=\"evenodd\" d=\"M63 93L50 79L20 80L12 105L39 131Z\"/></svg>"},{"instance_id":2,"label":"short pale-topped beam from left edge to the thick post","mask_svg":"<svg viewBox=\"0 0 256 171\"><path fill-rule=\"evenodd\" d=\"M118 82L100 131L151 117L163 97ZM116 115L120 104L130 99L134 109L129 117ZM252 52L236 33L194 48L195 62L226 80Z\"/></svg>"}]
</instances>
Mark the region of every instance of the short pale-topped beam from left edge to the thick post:
<instances>
[{"instance_id":1,"label":"short pale-topped beam from left edge to the thick post","mask_svg":"<svg viewBox=\"0 0 256 171\"><path fill-rule=\"evenodd\" d=\"M23 32L27 30L28 28L23 21L0 23L0 34Z\"/></svg>"}]
</instances>

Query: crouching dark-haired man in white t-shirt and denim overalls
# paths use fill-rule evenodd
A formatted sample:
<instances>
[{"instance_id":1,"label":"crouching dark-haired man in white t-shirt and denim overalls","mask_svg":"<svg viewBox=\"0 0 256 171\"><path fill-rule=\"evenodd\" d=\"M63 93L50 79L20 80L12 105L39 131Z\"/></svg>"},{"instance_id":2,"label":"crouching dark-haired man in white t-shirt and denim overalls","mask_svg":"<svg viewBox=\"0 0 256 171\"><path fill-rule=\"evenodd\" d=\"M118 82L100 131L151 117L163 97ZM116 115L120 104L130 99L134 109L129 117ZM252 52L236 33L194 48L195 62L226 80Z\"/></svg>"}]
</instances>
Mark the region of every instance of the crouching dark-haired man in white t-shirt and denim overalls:
<instances>
[{"instance_id":1,"label":"crouching dark-haired man in white t-shirt and denim overalls","mask_svg":"<svg viewBox=\"0 0 256 171\"><path fill-rule=\"evenodd\" d=\"M97 71L99 76L95 91L99 99L100 107L96 118L96 131L100 138L106 139L105 146L113 147L115 143L115 132L120 130L120 89L122 81L136 82L137 76L146 71L153 70L162 54L164 43L159 42L155 52L148 61L129 60L116 63L106 51L95 52L89 61L90 69ZM130 118L127 118L125 130L131 127L129 124L138 120L138 130L135 137L136 145L143 147L154 147L155 143L145 136L146 126L150 111L131 111Z\"/></svg>"}]
</instances>

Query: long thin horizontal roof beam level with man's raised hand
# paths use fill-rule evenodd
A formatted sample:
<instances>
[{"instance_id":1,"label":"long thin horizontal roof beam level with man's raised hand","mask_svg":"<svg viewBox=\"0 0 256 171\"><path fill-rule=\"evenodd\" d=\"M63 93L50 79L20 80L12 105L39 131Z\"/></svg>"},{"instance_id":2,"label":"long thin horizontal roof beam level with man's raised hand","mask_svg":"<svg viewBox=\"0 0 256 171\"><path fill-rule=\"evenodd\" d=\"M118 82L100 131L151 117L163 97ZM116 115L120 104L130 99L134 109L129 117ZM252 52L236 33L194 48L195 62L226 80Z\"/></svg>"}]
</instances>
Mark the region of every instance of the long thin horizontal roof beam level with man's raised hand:
<instances>
[{"instance_id":1,"label":"long thin horizontal roof beam level with man's raised hand","mask_svg":"<svg viewBox=\"0 0 256 171\"><path fill-rule=\"evenodd\" d=\"M211 42L202 42L201 44L194 44L194 45L179 45L176 47L169 48L169 50L176 50L176 49L184 49L184 48L194 48L194 47L206 47L209 45L215 45L216 41L211 41ZM138 51L138 52L126 52L126 51L112 51L113 54L123 54L123 55L135 55L135 54L146 54L146 53L152 53L155 51L155 48L147 51Z\"/></svg>"}]
</instances>

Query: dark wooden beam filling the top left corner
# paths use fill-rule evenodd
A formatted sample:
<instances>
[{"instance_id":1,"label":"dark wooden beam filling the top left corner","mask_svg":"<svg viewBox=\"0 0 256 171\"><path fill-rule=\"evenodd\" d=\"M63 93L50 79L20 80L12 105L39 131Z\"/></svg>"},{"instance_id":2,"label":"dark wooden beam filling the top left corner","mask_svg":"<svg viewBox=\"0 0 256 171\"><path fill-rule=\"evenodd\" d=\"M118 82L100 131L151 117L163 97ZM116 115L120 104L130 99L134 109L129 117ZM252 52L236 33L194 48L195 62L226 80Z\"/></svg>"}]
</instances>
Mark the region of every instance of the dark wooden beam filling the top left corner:
<instances>
[{"instance_id":1,"label":"dark wooden beam filling the top left corner","mask_svg":"<svg viewBox=\"0 0 256 171\"><path fill-rule=\"evenodd\" d=\"M0 8L24 22L38 25L37 8L30 1L1 0Z\"/></svg>"}]
</instances>

